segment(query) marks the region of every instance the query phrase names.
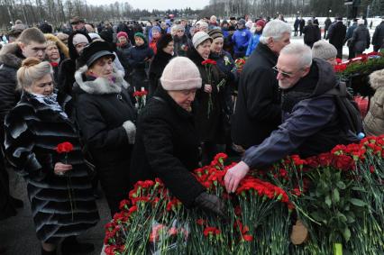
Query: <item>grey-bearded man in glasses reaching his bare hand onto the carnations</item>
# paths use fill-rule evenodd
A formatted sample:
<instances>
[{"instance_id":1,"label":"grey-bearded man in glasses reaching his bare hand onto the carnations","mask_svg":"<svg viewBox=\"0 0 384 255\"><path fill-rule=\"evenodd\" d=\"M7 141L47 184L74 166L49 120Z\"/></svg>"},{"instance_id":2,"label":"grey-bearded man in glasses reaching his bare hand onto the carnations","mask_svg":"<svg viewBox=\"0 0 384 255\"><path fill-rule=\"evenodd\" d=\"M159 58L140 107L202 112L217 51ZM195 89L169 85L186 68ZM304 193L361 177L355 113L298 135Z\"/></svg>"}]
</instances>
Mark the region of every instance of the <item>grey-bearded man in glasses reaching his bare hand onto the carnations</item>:
<instances>
[{"instance_id":1,"label":"grey-bearded man in glasses reaching his bare hand onto the carnations","mask_svg":"<svg viewBox=\"0 0 384 255\"><path fill-rule=\"evenodd\" d=\"M293 43L281 50L276 69L283 90L283 123L228 170L224 178L228 192L236 190L250 169L268 167L292 153L310 157L352 142L343 132L334 96L326 93L337 86L329 63L312 60L306 45ZM358 141L357 137L352 140Z\"/></svg>"}]
</instances>

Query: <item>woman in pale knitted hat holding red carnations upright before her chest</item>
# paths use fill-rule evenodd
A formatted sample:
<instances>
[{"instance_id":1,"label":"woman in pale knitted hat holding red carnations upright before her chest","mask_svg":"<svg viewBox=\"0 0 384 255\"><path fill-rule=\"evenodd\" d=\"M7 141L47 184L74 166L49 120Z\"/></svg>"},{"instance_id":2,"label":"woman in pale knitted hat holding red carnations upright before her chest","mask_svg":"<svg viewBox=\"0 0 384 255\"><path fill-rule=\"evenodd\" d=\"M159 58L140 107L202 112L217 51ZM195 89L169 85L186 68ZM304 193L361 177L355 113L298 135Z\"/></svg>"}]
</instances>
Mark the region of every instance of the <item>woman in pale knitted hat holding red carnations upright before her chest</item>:
<instances>
[{"instance_id":1,"label":"woman in pale knitted hat holding red carnations upright before her chest","mask_svg":"<svg viewBox=\"0 0 384 255\"><path fill-rule=\"evenodd\" d=\"M197 90L194 103L194 116L203 150L203 165L220 151L219 144L225 143L225 76L216 61L209 59L212 41L206 32L197 32L192 39L194 48L188 52L188 58L197 65L202 77L202 86Z\"/></svg>"}]
</instances>

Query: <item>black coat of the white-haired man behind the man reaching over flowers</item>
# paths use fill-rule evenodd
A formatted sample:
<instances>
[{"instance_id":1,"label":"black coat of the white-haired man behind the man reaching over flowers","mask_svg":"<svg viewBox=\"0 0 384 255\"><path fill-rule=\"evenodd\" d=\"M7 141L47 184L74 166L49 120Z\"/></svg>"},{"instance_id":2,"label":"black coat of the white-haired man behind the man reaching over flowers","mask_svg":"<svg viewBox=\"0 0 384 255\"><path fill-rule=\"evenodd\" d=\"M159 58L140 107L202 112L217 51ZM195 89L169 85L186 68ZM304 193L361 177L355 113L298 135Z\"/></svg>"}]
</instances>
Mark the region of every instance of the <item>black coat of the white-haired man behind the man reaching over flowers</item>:
<instances>
[{"instance_id":1,"label":"black coat of the white-haired man behind the man reaching over flowers","mask_svg":"<svg viewBox=\"0 0 384 255\"><path fill-rule=\"evenodd\" d=\"M232 123L232 139L247 149L260 144L281 123L279 83L272 68L278 55L259 43L245 63Z\"/></svg>"}]
</instances>

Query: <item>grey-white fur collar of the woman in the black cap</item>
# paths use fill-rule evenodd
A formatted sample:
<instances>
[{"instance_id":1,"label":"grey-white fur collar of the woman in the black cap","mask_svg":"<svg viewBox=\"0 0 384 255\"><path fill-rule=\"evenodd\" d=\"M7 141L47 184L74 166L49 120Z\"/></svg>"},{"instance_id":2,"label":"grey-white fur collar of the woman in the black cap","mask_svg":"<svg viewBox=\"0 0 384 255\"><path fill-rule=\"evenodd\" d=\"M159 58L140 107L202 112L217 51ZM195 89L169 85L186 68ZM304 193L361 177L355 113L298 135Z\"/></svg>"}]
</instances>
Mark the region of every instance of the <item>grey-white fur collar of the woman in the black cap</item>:
<instances>
[{"instance_id":1,"label":"grey-white fur collar of the woman in the black cap","mask_svg":"<svg viewBox=\"0 0 384 255\"><path fill-rule=\"evenodd\" d=\"M114 68L114 77L116 80L113 82L105 77L97 77L95 80L84 80L83 74L88 70L87 66L78 68L75 73L75 79L78 87L80 87L87 94L105 95L115 94L122 92L122 87L127 88L129 84L123 79L122 71Z\"/></svg>"}]
</instances>

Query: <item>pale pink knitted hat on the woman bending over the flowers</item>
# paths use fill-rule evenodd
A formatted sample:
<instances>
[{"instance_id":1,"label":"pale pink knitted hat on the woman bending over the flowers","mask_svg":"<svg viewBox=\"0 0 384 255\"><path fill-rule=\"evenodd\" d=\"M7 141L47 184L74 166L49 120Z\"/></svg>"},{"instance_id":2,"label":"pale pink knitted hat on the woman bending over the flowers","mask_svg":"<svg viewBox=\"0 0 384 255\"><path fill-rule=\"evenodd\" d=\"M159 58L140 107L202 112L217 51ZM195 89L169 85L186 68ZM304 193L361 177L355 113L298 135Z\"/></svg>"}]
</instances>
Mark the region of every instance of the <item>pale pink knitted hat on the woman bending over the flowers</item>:
<instances>
[{"instance_id":1,"label":"pale pink knitted hat on the woman bending over the flowers","mask_svg":"<svg viewBox=\"0 0 384 255\"><path fill-rule=\"evenodd\" d=\"M185 90L200 88L202 79L191 59L176 57L164 68L160 82L165 90Z\"/></svg>"}]
</instances>

